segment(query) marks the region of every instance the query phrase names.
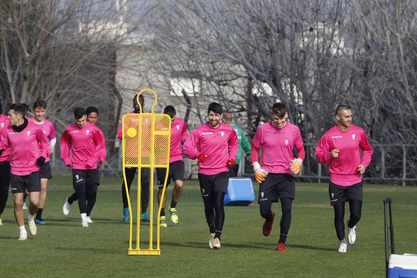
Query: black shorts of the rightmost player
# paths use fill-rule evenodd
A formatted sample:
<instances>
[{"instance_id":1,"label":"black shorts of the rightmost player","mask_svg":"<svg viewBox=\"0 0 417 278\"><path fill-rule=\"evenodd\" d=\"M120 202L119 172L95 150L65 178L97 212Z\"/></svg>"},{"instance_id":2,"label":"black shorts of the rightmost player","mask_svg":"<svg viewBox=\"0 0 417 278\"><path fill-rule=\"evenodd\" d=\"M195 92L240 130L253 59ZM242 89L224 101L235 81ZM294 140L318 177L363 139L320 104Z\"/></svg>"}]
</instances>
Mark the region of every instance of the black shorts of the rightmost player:
<instances>
[{"instance_id":1,"label":"black shorts of the rightmost player","mask_svg":"<svg viewBox=\"0 0 417 278\"><path fill-rule=\"evenodd\" d=\"M349 199L363 200L362 181L349 186L329 183L330 205L347 202Z\"/></svg>"}]
</instances>

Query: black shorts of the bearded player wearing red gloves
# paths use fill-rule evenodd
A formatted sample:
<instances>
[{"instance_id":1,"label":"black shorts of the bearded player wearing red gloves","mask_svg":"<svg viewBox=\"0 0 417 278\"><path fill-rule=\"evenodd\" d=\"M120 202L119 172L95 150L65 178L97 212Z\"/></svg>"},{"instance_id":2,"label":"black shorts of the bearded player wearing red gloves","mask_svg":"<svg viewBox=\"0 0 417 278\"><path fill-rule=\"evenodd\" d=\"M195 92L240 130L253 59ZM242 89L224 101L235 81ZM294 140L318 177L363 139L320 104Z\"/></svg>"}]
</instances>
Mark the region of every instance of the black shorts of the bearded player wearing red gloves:
<instances>
[{"instance_id":1,"label":"black shorts of the bearded player wearing red gloves","mask_svg":"<svg viewBox=\"0 0 417 278\"><path fill-rule=\"evenodd\" d=\"M227 194L229 171L215 175L198 173L198 181L200 182L201 196L203 196L203 199L209 198L211 191L221 191Z\"/></svg>"}]
</instances>

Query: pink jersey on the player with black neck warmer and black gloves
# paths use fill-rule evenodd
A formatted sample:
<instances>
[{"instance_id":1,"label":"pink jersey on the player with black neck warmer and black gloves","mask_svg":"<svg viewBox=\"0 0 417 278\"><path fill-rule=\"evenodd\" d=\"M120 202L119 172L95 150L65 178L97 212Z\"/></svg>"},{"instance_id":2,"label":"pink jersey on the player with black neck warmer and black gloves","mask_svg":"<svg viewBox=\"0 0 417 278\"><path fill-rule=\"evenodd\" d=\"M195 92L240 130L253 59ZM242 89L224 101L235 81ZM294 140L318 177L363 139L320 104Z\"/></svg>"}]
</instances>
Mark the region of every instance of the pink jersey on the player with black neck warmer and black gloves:
<instances>
[{"instance_id":1,"label":"pink jersey on the player with black neck warmer and black gloves","mask_svg":"<svg viewBox=\"0 0 417 278\"><path fill-rule=\"evenodd\" d=\"M39 170L38 158L49 154L48 138L42 130L33 123L20 132L16 132L12 126L7 127L0 139L0 150L10 148L11 172L15 175L28 175Z\"/></svg>"}]
</instances>

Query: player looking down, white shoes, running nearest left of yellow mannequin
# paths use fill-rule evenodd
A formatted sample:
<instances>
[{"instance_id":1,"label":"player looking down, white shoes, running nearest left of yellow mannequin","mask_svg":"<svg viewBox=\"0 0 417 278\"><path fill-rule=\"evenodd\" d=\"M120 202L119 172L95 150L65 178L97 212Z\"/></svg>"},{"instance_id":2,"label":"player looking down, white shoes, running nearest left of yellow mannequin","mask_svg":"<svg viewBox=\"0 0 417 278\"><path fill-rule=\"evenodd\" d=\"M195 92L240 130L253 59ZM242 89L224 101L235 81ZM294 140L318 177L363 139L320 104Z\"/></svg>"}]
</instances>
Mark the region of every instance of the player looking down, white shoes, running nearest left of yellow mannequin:
<instances>
[{"instance_id":1,"label":"player looking down, white shoes, running nearest left of yellow mannequin","mask_svg":"<svg viewBox=\"0 0 417 278\"><path fill-rule=\"evenodd\" d=\"M84 108L75 108L74 119L75 123L68 125L61 136L61 159L73 169L73 187L78 195L81 226L88 227L87 212L89 214L93 209L100 185L97 160L103 151L103 138L95 125L86 122Z\"/></svg>"}]
</instances>

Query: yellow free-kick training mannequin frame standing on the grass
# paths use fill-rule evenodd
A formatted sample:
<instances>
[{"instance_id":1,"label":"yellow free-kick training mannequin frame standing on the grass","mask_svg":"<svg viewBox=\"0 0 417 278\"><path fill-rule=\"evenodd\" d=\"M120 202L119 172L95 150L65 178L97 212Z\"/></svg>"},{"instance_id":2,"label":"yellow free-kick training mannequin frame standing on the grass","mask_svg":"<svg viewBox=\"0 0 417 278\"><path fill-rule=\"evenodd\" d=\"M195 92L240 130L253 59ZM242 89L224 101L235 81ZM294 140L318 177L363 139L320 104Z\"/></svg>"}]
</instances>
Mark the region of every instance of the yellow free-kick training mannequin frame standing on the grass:
<instances>
[{"instance_id":1,"label":"yellow free-kick training mannequin frame standing on the grass","mask_svg":"<svg viewBox=\"0 0 417 278\"><path fill-rule=\"evenodd\" d=\"M152 105L152 113L142 113L142 106L139 102L139 96L141 93L148 91L153 93L155 96L155 102ZM159 214L161 213L161 207L162 202L159 205L158 209L158 215L156 216L156 222L157 222L157 246L156 249L153 249L152 243L153 243L153 169L154 168L166 168L166 175L165 175L165 181L164 181L164 187L162 190L162 197L161 200L163 200L163 197L165 195L165 188L166 188L166 181L168 178L168 167L169 167L169 147L171 142L171 117L167 114L155 114L153 112L153 109L155 108L156 102L158 98L156 96L156 93L151 89L143 89L138 93L137 96L137 102L139 104L139 114L126 114L122 118L122 131L123 131L123 137L122 137L122 146L123 146L123 179L126 186L126 194L128 198L128 205L129 205L129 214L130 214L130 233L129 233L129 255L161 255L161 249L159 246ZM143 164L142 160L142 121L144 117L151 116L151 148L148 149L150 152L150 163ZM127 121L129 118L138 118L138 125L137 130L135 132L135 135L131 133L128 135L127 130L125 131L125 121ZM156 118L159 120L163 119L165 122L169 120L169 125L167 130L155 130L155 123ZM131 129L131 128L129 128ZM126 145L126 140L129 137L135 137L137 134L138 136L138 142L137 142L137 163L126 163L126 161L131 158L127 155L129 146ZM132 136L133 135L133 136ZM161 135L162 138L168 137L168 144L164 146L156 146L155 145L155 135ZM165 136L164 136L165 135ZM166 136L167 135L167 136ZM126 139L127 138L127 139ZM158 142L157 142L158 143ZM163 161L161 161L161 158L158 158L158 162L155 161L155 153L158 153L158 150L155 150L155 147L162 147L163 148ZM165 159L166 158L166 159ZM126 174L125 174L125 168L126 167L136 167L138 168L138 207L137 207L137 218L136 218L136 248L132 248L132 232L133 232L133 219L132 219L132 207L131 207L131 200L128 192L128 185L126 181ZM149 249L140 249L140 209L141 209L141 168L151 168L151 180L149 181L149 191L150 191L150 219L151 222L149 223Z\"/></svg>"}]
</instances>

